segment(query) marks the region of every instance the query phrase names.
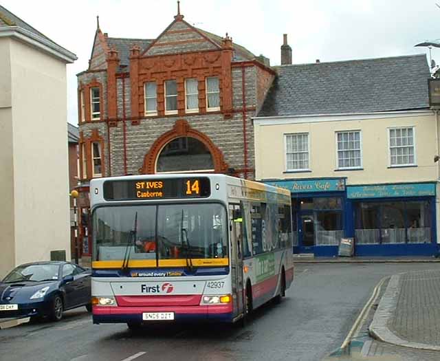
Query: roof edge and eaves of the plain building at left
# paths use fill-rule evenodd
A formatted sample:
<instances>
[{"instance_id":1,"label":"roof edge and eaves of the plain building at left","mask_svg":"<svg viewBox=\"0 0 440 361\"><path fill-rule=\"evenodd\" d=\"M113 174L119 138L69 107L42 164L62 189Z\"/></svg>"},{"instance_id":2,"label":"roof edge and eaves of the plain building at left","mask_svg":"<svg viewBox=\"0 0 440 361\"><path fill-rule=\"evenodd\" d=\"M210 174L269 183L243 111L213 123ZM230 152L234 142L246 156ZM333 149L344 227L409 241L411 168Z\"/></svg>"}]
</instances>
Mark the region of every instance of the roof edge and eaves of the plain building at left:
<instances>
[{"instance_id":1,"label":"roof edge and eaves of the plain building at left","mask_svg":"<svg viewBox=\"0 0 440 361\"><path fill-rule=\"evenodd\" d=\"M43 45L49 46L52 50L61 53L65 60L69 62L76 60L75 54L69 52L69 50L66 50L61 45L58 45L31 25L21 20L17 15L12 14L12 12L0 5L0 31L5 32L6 30L19 30L21 34L28 35L32 37L32 40L38 41Z\"/></svg>"}]
</instances>

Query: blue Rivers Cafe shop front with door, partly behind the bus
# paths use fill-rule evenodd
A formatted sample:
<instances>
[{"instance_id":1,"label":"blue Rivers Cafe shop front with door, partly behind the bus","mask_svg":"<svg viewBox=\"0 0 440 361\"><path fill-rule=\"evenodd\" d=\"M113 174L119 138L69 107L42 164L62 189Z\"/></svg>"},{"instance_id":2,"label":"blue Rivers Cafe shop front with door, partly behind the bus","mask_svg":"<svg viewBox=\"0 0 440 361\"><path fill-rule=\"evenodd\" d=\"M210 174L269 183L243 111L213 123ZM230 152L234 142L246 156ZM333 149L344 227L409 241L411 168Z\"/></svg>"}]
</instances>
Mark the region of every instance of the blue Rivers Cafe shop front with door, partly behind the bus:
<instances>
[{"instance_id":1,"label":"blue Rivers Cafe shop front with door, partly behind the bus","mask_svg":"<svg viewBox=\"0 0 440 361\"><path fill-rule=\"evenodd\" d=\"M344 178L268 181L292 193L294 253L333 256L346 233Z\"/></svg>"}]
</instances>

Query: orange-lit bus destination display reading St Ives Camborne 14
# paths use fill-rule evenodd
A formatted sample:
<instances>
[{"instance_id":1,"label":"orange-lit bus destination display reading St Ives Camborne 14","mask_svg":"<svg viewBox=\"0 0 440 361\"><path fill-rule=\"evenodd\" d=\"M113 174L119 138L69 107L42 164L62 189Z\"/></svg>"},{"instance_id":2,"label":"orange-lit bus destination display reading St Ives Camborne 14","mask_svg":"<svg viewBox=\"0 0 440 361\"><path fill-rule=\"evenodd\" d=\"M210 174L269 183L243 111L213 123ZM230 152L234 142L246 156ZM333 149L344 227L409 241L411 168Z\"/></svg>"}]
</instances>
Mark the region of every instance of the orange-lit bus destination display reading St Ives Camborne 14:
<instances>
[{"instance_id":1,"label":"orange-lit bus destination display reading St Ives Camborne 14","mask_svg":"<svg viewBox=\"0 0 440 361\"><path fill-rule=\"evenodd\" d=\"M210 196L208 178L168 178L106 181L104 199L121 201L134 199L203 198Z\"/></svg>"}]
</instances>

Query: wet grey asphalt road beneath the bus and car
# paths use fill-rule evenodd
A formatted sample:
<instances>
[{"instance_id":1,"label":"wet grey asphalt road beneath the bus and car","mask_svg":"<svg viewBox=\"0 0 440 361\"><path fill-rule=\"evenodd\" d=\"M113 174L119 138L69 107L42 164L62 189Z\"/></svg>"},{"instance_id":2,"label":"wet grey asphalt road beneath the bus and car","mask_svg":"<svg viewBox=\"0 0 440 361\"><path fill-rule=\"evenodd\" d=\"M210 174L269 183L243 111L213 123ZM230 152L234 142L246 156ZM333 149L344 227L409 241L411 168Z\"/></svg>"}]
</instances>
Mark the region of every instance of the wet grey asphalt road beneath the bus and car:
<instances>
[{"instance_id":1,"label":"wet grey asphalt road beneath the bus and car","mask_svg":"<svg viewBox=\"0 0 440 361\"><path fill-rule=\"evenodd\" d=\"M0 360L320 360L340 346L375 285L389 274L438 269L438 263L296 265L281 305L256 311L241 329L161 325L132 333L92 325L69 311L59 323L0 330Z\"/></svg>"}]
</instances>

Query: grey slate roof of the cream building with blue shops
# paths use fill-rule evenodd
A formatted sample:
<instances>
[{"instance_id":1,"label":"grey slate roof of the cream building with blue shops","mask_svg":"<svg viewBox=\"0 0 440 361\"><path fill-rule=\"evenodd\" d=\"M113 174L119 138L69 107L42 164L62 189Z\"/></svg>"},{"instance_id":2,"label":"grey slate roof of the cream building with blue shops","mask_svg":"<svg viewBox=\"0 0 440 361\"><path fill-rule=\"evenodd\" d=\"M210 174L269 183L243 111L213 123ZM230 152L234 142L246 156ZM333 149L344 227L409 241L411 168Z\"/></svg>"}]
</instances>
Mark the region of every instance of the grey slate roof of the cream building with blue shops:
<instances>
[{"instance_id":1,"label":"grey slate roof of the cream building with blue shops","mask_svg":"<svg viewBox=\"0 0 440 361\"><path fill-rule=\"evenodd\" d=\"M427 109L425 54L282 65L261 116Z\"/></svg>"}]
</instances>

